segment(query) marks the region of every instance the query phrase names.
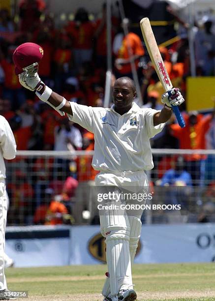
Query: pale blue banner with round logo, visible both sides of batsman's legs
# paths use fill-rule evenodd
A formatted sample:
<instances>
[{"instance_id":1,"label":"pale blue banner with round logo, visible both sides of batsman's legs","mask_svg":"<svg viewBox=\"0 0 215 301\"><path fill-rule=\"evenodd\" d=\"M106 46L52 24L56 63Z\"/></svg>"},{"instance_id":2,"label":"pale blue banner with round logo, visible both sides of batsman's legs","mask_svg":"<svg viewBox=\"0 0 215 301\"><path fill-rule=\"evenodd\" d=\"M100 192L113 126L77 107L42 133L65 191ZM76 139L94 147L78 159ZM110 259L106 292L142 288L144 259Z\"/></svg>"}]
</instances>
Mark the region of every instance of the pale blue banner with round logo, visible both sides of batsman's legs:
<instances>
[{"instance_id":1,"label":"pale blue banner with round logo, visible both sides of batsman's legs","mask_svg":"<svg viewBox=\"0 0 215 301\"><path fill-rule=\"evenodd\" d=\"M98 226L72 228L70 264L105 262L105 240ZM143 225L134 263L215 261L215 224Z\"/></svg>"}]
</instances>

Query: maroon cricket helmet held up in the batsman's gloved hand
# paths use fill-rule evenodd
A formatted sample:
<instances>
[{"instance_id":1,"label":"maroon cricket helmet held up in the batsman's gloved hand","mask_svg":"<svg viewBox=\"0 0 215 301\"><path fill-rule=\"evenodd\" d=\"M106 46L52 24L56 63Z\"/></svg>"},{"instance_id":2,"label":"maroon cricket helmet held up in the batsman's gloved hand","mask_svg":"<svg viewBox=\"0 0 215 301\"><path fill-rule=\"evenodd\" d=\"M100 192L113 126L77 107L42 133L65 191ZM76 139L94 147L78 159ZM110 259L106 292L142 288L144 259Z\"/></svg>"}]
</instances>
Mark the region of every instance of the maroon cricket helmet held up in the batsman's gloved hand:
<instances>
[{"instance_id":1,"label":"maroon cricket helmet held up in the batsman's gloved hand","mask_svg":"<svg viewBox=\"0 0 215 301\"><path fill-rule=\"evenodd\" d=\"M23 68L39 62L43 57L43 49L35 43L24 43L18 46L13 53L15 74L23 72Z\"/></svg>"}]
</instances>

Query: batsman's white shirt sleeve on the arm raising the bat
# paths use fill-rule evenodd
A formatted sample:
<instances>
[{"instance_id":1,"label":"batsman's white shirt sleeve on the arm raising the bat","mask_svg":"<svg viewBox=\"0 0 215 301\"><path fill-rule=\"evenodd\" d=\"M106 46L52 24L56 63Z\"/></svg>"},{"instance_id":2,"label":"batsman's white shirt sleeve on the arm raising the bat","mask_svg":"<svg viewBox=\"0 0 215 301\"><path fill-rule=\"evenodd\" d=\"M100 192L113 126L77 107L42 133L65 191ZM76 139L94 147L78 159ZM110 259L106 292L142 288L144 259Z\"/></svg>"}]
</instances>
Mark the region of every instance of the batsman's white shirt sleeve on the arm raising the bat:
<instances>
[{"instance_id":1,"label":"batsman's white shirt sleeve on the arm raising the bat","mask_svg":"<svg viewBox=\"0 0 215 301\"><path fill-rule=\"evenodd\" d=\"M157 111L157 110L154 110L151 108L143 109L147 134L148 134L149 138L153 138L156 134L161 132L165 125L165 123L160 123L160 124L154 126L153 117L154 117L154 114L156 114L157 112L160 112L160 110Z\"/></svg>"}]
</instances>

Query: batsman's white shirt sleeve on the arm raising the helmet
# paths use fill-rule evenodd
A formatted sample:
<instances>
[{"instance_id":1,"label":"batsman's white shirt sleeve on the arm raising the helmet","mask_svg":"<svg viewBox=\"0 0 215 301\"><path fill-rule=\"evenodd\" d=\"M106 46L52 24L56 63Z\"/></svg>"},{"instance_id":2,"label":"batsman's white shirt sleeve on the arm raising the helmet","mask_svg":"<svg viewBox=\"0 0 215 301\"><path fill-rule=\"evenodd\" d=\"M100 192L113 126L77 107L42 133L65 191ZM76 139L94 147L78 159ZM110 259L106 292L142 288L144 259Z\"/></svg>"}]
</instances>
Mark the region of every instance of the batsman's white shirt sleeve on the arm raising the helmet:
<instances>
[{"instance_id":1,"label":"batsman's white shirt sleeve on the arm raising the helmet","mask_svg":"<svg viewBox=\"0 0 215 301\"><path fill-rule=\"evenodd\" d=\"M93 133L93 109L92 107L79 105L75 102L69 101L73 115L67 114L70 121L80 124L86 128L89 132Z\"/></svg>"}]
</instances>

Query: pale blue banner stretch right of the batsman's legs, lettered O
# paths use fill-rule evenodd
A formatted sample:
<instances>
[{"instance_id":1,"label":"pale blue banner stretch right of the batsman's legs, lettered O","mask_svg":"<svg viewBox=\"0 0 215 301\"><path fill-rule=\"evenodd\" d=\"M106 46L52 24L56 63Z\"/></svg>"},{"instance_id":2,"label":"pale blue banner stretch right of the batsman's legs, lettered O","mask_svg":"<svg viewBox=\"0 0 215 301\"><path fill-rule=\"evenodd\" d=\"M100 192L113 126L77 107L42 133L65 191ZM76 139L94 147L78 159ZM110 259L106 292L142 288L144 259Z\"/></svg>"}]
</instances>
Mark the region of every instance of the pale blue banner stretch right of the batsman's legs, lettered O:
<instances>
[{"instance_id":1,"label":"pale blue banner stretch right of the batsman's legs, lettered O","mask_svg":"<svg viewBox=\"0 0 215 301\"><path fill-rule=\"evenodd\" d=\"M143 226L135 263L215 261L215 224Z\"/></svg>"}]
</instances>

